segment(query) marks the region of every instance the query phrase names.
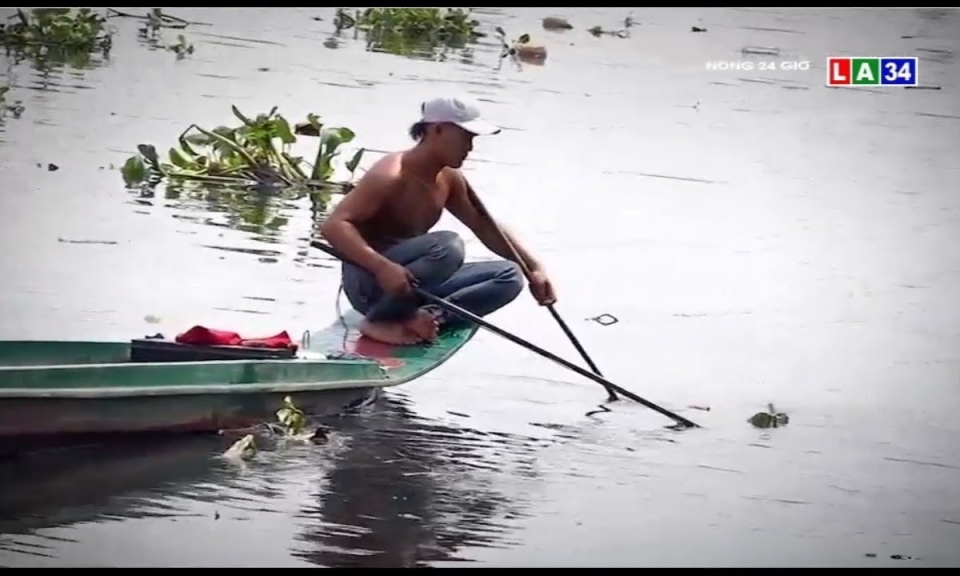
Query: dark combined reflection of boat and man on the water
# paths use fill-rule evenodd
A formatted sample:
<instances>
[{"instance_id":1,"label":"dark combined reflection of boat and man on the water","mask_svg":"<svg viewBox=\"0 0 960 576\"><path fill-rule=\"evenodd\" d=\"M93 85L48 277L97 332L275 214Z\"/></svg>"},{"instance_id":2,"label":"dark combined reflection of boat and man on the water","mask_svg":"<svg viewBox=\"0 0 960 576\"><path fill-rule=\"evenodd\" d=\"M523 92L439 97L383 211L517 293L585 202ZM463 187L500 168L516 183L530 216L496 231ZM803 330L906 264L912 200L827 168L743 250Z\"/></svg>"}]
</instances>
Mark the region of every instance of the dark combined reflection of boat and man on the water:
<instances>
[{"instance_id":1,"label":"dark combined reflection of boat and man on the water","mask_svg":"<svg viewBox=\"0 0 960 576\"><path fill-rule=\"evenodd\" d=\"M261 440L256 458L239 466L217 457L231 438L216 436L2 462L0 553L17 564L35 556L69 562L64 557L76 544L96 533L89 524L188 517L256 523L277 514L292 516L298 531L279 545L320 566L426 566L457 560L468 546L514 544L510 523L526 516L525 487L538 482L533 452L544 440L429 421L402 397L323 424L332 430L327 445ZM306 496L304 482L313 486ZM84 563L153 562L84 548ZM225 552L201 538L178 563L218 561Z\"/></svg>"}]
</instances>

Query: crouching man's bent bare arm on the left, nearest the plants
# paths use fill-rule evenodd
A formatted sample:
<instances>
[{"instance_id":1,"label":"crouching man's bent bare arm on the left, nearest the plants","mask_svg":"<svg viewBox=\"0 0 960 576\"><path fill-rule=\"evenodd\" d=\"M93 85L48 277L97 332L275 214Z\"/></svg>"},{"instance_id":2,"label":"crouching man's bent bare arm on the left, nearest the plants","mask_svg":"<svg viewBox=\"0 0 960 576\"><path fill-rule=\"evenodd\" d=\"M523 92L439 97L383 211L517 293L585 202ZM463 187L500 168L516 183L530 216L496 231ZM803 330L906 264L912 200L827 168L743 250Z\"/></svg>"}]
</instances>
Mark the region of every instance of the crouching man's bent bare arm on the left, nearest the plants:
<instances>
[{"instance_id":1,"label":"crouching man's bent bare arm on the left, nearest the plants","mask_svg":"<svg viewBox=\"0 0 960 576\"><path fill-rule=\"evenodd\" d=\"M335 250L373 275L392 262L363 239L355 224L376 214L390 190L391 180L391 176L382 169L372 168L337 204L320 227L320 233Z\"/></svg>"}]
</instances>

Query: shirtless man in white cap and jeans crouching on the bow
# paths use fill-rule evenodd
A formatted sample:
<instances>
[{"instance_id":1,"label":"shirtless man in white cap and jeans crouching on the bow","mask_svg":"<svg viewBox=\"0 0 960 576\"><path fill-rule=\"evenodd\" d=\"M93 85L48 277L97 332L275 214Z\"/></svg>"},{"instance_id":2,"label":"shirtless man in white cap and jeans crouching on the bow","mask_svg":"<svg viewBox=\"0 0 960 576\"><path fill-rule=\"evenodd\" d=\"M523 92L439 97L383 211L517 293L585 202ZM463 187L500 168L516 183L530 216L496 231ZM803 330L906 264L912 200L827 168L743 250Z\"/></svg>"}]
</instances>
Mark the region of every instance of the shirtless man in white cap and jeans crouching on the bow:
<instances>
[{"instance_id":1,"label":"shirtless man in white cap and jeans crouching on the bow","mask_svg":"<svg viewBox=\"0 0 960 576\"><path fill-rule=\"evenodd\" d=\"M441 97L421 106L410 128L417 144L378 160L320 229L333 248L358 264L343 265L344 292L364 315L360 332L389 344L432 341L444 325L462 321L414 294L411 281L477 316L513 301L523 274L497 224L470 202L459 168L477 135L500 129L480 118L475 102ZM430 232L444 208L504 260L464 263L463 240ZM503 227L500 226L503 230ZM540 262L506 230L531 271L530 291L541 305L556 301Z\"/></svg>"}]
</instances>

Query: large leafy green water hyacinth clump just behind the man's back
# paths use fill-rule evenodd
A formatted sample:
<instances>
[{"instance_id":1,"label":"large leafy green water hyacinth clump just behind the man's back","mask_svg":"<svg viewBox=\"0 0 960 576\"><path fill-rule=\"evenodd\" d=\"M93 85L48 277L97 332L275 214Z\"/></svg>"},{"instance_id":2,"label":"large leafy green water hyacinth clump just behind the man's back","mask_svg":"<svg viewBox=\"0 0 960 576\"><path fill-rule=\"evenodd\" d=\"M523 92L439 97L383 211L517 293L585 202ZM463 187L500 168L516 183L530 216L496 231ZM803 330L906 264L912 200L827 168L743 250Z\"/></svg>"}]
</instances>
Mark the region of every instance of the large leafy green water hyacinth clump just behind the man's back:
<instances>
[{"instance_id":1,"label":"large leafy green water hyacinth clump just behind the man's back","mask_svg":"<svg viewBox=\"0 0 960 576\"><path fill-rule=\"evenodd\" d=\"M140 154L130 157L121 169L127 186L155 184L163 178L204 180L240 186L322 186L333 177L334 159L341 146L351 142L355 134L345 127L328 127L316 114L291 129L290 123L277 114L274 107L268 114L250 118L232 107L241 124L205 129L192 124L179 137L179 148L170 148L168 162L161 161L156 148L140 144ZM316 160L305 171L302 157L292 155L296 134L320 139ZM360 148L346 162L351 175L357 169L364 149Z\"/></svg>"}]
</instances>

